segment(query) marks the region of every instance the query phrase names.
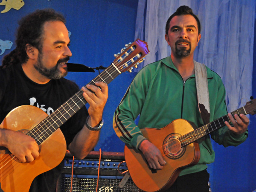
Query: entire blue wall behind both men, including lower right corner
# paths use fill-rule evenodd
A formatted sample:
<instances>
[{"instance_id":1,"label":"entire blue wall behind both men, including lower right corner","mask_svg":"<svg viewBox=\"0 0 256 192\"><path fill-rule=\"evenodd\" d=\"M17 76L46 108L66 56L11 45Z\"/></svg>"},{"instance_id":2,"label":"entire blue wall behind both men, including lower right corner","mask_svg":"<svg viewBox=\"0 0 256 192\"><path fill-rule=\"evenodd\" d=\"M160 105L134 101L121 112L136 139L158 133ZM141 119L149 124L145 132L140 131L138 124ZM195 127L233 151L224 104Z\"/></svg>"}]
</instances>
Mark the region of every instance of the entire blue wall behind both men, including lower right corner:
<instances>
[{"instance_id":1,"label":"entire blue wall behind both men, including lower right corner","mask_svg":"<svg viewBox=\"0 0 256 192\"><path fill-rule=\"evenodd\" d=\"M67 28L71 32L70 49L73 53L70 62L90 67L108 67L114 60L113 54L134 41L137 4L138 0L25 0L20 10L11 9L7 13L0 13L0 39L14 42L17 20L36 9L50 7L62 12L67 18ZM4 6L0 6L0 11L3 9ZM12 49L14 47L15 44ZM3 55L12 49L6 49ZM3 55L0 55L0 60ZM69 73L67 78L76 81L81 87L96 75L98 72ZM105 125L96 150L123 151L124 144L112 128L112 117L134 76L135 73L125 72L109 84L109 99L103 116ZM253 87L256 87L256 65L253 66ZM253 96L256 98L255 88ZM249 151L249 148L255 148L255 116L250 116L250 120L249 138L245 143L228 148L215 145L215 163L209 167L213 191L249 192L256 189L256 153Z\"/></svg>"}]
</instances>

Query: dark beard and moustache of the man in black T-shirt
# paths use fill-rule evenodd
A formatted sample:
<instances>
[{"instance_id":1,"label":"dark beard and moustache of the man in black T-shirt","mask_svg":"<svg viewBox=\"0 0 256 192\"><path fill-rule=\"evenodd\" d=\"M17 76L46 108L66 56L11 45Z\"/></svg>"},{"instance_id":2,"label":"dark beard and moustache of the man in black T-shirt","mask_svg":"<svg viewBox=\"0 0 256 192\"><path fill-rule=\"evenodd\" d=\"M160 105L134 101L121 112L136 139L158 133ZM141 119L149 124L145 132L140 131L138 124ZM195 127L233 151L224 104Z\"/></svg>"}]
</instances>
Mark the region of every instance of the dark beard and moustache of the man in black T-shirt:
<instances>
[{"instance_id":1,"label":"dark beard and moustache of the man in black T-shirt","mask_svg":"<svg viewBox=\"0 0 256 192\"><path fill-rule=\"evenodd\" d=\"M58 60L56 66L52 67L51 69L47 69L46 67L44 67L41 59L42 59L42 54L39 53L38 61L34 65L35 69L38 70L38 72L41 75L46 76L48 79L61 79L62 77L67 75L67 67L63 68L65 70L64 72L61 72L60 70L58 70L58 65L60 63L67 62L70 59L69 57L65 57Z\"/></svg>"}]
</instances>

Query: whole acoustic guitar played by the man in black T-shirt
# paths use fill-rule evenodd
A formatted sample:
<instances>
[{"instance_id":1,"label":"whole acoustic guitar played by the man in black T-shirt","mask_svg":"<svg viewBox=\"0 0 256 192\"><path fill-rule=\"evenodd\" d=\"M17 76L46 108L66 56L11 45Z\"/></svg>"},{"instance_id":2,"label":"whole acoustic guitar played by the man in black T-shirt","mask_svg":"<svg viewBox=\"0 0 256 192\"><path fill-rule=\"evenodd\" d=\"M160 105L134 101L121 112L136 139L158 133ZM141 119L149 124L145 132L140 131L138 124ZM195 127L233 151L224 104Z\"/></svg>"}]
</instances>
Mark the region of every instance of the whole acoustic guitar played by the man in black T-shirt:
<instances>
[{"instance_id":1,"label":"whole acoustic guitar played by the man in black T-shirt","mask_svg":"<svg viewBox=\"0 0 256 192\"><path fill-rule=\"evenodd\" d=\"M145 41L137 39L122 49L113 63L90 81L110 83L119 74L137 67L149 53ZM0 147L0 183L4 192L28 192L33 179L63 160L66 153L66 142L60 126L73 116L87 102L79 90L67 102L49 116L41 109L23 105L13 109L0 125L0 128L19 131L34 138L40 148L40 155L31 163L20 163L7 148Z\"/></svg>"}]
</instances>

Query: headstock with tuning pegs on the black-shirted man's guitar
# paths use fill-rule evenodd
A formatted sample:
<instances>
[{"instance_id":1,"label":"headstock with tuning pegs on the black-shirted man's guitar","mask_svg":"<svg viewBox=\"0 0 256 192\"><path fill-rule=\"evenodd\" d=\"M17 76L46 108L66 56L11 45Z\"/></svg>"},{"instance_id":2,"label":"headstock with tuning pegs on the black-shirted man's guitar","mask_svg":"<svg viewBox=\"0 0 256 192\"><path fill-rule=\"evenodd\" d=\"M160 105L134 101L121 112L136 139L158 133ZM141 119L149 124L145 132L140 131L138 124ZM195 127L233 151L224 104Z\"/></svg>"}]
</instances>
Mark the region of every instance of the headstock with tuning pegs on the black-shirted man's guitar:
<instances>
[{"instance_id":1,"label":"headstock with tuning pegs on the black-shirted man's guitar","mask_svg":"<svg viewBox=\"0 0 256 192\"><path fill-rule=\"evenodd\" d=\"M133 67L137 68L137 65L144 61L145 55L149 53L148 44L140 39L126 45L122 50L121 53L114 55L116 59L113 61L121 73L127 70L131 72Z\"/></svg>"}]
</instances>

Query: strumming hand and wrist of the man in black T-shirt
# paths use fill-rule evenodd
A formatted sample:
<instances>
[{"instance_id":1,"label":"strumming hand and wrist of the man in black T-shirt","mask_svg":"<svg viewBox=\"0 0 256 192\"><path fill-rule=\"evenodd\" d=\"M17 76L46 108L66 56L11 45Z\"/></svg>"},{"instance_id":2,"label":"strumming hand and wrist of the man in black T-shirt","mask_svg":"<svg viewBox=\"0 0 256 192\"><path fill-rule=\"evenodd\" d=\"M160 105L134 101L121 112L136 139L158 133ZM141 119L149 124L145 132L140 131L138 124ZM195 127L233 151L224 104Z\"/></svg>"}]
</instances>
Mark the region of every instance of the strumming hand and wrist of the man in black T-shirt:
<instances>
[{"instance_id":1,"label":"strumming hand and wrist of the man in black T-shirt","mask_svg":"<svg viewBox=\"0 0 256 192\"><path fill-rule=\"evenodd\" d=\"M9 149L22 163L32 162L39 156L38 144L26 134L0 129L1 145Z\"/></svg>"}]
</instances>

